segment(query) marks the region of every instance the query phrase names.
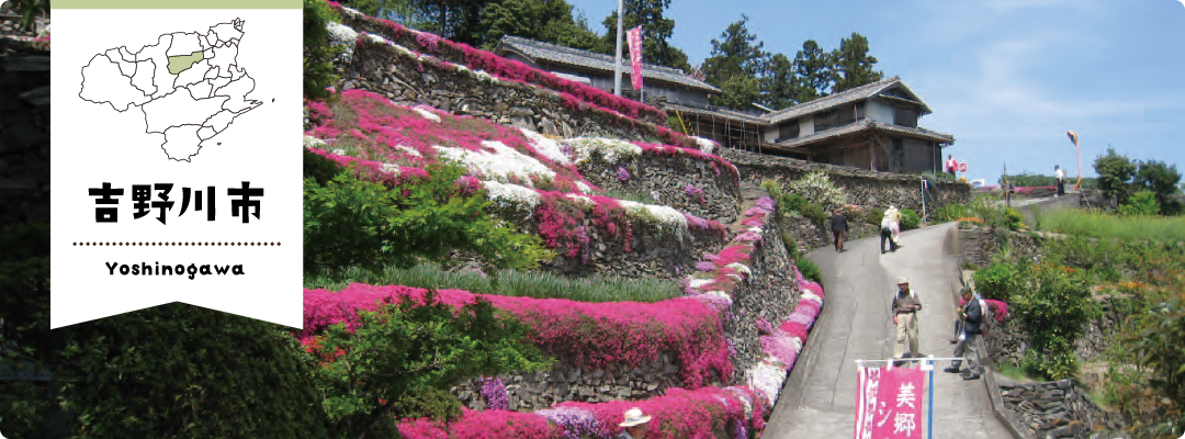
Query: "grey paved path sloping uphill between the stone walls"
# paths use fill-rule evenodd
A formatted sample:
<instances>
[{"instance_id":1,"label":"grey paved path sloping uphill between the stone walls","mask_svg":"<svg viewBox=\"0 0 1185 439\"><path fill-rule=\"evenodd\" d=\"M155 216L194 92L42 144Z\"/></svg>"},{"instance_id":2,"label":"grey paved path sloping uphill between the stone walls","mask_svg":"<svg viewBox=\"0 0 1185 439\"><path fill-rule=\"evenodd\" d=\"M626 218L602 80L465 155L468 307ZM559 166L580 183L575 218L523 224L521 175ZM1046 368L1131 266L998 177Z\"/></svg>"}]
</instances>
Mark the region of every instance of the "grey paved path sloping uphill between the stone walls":
<instances>
[{"instance_id":1,"label":"grey paved path sloping uphill between the stone walls","mask_svg":"<svg viewBox=\"0 0 1185 439\"><path fill-rule=\"evenodd\" d=\"M826 311L803 348L813 351L800 357L762 438L853 435L856 360L892 355L889 304L898 276L908 276L922 300L922 354L950 356L955 311L950 285L956 272L943 244L953 227L948 223L903 233L904 247L896 254L880 255L876 237L847 242L843 254L827 247L808 255L822 269ZM941 369L935 371L935 381L934 438L1011 439L993 415L981 381L962 381Z\"/></svg>"}]
</instances>

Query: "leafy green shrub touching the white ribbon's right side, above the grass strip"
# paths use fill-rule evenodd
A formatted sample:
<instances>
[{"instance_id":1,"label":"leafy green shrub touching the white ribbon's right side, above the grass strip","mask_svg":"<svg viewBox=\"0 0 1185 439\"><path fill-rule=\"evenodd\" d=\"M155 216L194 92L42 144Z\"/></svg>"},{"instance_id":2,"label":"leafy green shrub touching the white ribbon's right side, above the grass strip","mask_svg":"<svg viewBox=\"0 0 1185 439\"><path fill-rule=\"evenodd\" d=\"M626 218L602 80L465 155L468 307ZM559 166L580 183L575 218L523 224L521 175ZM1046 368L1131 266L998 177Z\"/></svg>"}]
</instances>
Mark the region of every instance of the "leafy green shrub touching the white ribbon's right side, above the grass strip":
<instances>
[{"instance_id":1,"label":"leafy green shrub touching the white ribbon's right side, above the grass strip","mask_svg":"<svg viewBox=\"0 0 1185 439\"><path fill-rule=\"evenodd\" d=\"M457 165L430 165L429 178L390 189L342 172L325 185L305 180L305 273L350 267L410 268L472 250L497 267L530 268L553 253L538 236L515 233L486 214L483 191L462 195Z\"/></svg>"}]
</instances>

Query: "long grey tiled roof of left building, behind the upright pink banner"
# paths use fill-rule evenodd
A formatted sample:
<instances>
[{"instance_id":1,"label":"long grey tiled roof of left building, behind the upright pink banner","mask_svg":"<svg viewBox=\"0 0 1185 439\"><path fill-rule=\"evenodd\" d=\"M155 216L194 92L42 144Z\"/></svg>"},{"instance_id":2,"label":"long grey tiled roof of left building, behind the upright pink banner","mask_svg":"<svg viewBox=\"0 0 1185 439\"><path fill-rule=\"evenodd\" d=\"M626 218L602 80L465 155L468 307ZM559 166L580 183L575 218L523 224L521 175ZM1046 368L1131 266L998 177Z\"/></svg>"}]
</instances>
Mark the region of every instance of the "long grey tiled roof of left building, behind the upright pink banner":
<instances>
[{"instance_id":1,"label":"long grey tiled roof of left building, behind the upright pink banner","mask_svg":"<svg viewBox=\"0 0 1185 439\"><path fill-rule=\"evenodd\" d=\"M562 45L536 42L533 39L526 39L520 37L505 36L498 42L498 47L494 49L494 53L502 55L507 50L515 51L532 59L546 59L555 63L563 63L570 65L579 65L589 69L597 69L603 71L613 71L614 63L611 56L603 53L594 53L587 50L564 47ZM629 66L629 59L622 56L623 65L621 71L623 74L632 72ZM711 84L687 76L681 70L665 68L652 64L642 64L642 77L653 78L665 82L672 82L686 87L693 87L702 90L707 90L711 93L722 93L720 89L712 87ZM624 78L623 78L624 79Z\"/></svg>"}]
</instances>

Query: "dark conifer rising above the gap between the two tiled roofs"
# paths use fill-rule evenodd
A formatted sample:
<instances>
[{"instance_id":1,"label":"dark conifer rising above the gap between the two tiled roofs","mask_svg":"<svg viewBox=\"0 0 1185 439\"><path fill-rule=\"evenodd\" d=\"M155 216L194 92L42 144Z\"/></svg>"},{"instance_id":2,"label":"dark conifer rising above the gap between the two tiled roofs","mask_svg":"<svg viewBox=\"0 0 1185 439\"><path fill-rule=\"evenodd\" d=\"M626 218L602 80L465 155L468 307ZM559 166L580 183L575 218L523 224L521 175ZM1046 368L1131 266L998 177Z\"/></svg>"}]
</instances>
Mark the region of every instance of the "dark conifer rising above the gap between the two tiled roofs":
<instances>
[{"instance_id":1,"label":"dark conifer rising above the gap between the two tiled roofs","mask_svg":"<svg viewBox=\"0 0 1185 439\"><path fill-rule=\"evenodd\" d=\"M704 59L704 74L707 82L718 84L724 91L713 96L712 104L731 108L743 108L750 102L745 100L761 95L757 74L769 57L757 42L757 36L749 33L749 17L742 14L720 33L720 39L712 39L712 55Z\"/></svg>"}]
</instances>

